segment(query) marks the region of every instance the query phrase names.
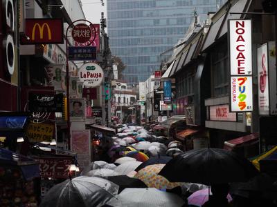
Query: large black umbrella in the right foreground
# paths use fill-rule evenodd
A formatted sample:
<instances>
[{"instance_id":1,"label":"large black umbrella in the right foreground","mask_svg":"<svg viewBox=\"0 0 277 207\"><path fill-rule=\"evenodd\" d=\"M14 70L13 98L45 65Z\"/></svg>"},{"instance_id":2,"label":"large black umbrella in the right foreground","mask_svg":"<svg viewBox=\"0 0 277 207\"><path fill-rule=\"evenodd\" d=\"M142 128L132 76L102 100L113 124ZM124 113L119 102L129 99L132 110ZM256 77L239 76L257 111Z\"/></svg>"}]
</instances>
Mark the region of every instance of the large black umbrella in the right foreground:
<instances>
[{"instance_id":1,"label":"large black umbrella in the right foreground","mask_svg":"<svg viewBox=\"0 0 277 207\"><path fill-rule=\"evenodd\" d=\"M224 184L248 181L258 170L235 152L220 148L190 150L171 159L159 172L169 181Z\"/></svg>"}]
</instances>

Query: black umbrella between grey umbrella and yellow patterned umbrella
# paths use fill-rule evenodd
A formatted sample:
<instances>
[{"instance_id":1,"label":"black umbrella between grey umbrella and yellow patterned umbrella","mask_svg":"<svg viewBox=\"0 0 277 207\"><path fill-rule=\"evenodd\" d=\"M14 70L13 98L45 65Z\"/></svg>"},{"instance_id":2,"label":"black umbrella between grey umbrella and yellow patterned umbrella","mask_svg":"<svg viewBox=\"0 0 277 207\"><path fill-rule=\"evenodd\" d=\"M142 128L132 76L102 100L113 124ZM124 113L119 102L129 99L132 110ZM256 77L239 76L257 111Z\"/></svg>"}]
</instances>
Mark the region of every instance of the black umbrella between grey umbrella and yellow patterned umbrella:
<instances>
[{"instance_id":1,"label":"black umbrella between grey umbrella and yellow patterned umbrella","mask_svg":"<svg viewBox=\"0 0 277 207\"><path fill-rule=\"evenodd\" d=\"M148 188L148 186L146 186L140 179L128 177L127 175L110 176L105 178L119 186L118 193L125 188Z\"/></svg>"}]
</instances>

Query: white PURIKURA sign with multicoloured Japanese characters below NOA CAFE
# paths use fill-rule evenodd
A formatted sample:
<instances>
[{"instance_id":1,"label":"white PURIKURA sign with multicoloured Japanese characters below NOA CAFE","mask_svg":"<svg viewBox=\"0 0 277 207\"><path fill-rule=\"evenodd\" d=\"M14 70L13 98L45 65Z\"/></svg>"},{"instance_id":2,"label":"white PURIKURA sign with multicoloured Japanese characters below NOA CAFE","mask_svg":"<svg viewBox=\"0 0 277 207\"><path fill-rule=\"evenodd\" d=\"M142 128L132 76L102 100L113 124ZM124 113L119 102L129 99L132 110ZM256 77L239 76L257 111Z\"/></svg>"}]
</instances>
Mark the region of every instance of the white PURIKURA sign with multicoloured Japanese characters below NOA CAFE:
<instances>
[{"instance_id":1,"label":"white PURIKURA sign with multicoloured Japanese characters below NOA CAFE","mask_svg":"<svg viewBox=\"0 0 277 207\"><path fill-rule=\"evenodd\" d=\"M253 110L252 77L231 77L231 111Z\"/></svg>"}]
</instances>

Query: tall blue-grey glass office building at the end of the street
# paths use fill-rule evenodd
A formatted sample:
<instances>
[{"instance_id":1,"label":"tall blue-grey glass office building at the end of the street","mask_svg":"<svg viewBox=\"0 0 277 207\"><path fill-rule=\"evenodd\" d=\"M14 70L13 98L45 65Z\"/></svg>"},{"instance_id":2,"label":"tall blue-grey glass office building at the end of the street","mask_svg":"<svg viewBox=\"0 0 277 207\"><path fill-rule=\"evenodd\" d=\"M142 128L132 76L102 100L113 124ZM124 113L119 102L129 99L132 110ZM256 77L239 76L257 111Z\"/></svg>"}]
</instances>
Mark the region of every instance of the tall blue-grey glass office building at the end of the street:
<instances>
[{"instance_id":1,"label":"tall blue-grey glass office building at the end of the street","mask_svg":"<svg viewBox=\"0 0 277 207\"><path fill-rule=\"evenodd\" d=\"M204 21L207 13L215 12L224 1L107 0L111 53L127 66L123 71L125 81L136 84L148 79L154 70L159 70L161 52L184 37L194 21L195 10Z\"/></svg>"}]
</instances>

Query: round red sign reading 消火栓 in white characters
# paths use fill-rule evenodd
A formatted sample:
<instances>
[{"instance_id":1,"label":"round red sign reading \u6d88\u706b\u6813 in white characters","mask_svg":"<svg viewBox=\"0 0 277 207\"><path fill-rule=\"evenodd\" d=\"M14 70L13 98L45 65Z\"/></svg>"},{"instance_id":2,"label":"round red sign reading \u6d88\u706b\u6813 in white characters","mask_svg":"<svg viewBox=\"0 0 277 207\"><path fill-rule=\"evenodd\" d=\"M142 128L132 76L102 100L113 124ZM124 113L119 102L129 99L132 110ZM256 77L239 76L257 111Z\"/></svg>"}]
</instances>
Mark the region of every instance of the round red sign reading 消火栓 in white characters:
<instances>
[{"instance_id":1,"label":"round red sign reading \u6d88\u706b\u6813 in white characters","mask_svg":"<svg viewBox=\"0 0 277 207\"><path fill-rule=\"evenodd\" d=\"M72 38L78 43L85 43L91 38L91 27L85 23L78 23L72 29Z\"/></svg>"}]
</instances>

